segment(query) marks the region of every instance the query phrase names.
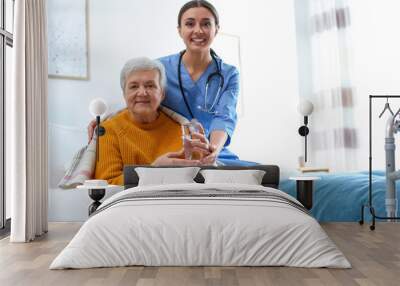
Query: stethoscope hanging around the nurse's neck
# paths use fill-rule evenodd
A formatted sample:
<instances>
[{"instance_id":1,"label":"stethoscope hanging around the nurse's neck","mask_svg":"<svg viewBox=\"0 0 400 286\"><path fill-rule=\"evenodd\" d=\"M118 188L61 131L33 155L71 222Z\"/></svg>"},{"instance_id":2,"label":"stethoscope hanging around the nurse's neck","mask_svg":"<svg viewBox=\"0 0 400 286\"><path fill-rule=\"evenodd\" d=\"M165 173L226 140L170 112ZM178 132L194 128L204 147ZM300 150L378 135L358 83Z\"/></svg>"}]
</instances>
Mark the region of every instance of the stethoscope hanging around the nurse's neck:
<instances>
[{"instance_id":1,"label":"stethoscope hanging around the nurse's neck","mask_svg":"<svg viewBox=\"0 0 400 286\"><path fill-rule=\"evenodd\" d=\"M178 80L179 80L179 88L181 90L181 94L183 97L183 101L185 102L185 105L190 113L190 116L192 118L194 118L193 116L193 112L192 109L189 106L189 103L187 101L186 95L185 95L185 91L183 90L183 86L182 86L182 74L181 74L181 64L182 64L182 57L185 54L185 50L183 50L180 55L179 55L179 62L178 62ZM217 66L217 71L211 73L208 77L207 77L207 81L206 81L206 89L205 89L205 94L204 94L204 106L198 106L198 108L203 111L203 112L207 112L207 113L211 113L211 114L215 114L217 113L217 111L213 111L213 109L215 109L214 107L219 103L219 100L221 99L221 89L224 86L224 76L221 73L221 66L218 64L217 61L217 54L211 50L211 57L215 62L215 65ZM212 80L212 78L218 77L219 78L219 85L218 85L218 90L217 90L217 94L215 95L214 101L211 104L211 106L207 106L207 97L208 97L208 86L210 81Z\"/></svg>"}]
</instances>

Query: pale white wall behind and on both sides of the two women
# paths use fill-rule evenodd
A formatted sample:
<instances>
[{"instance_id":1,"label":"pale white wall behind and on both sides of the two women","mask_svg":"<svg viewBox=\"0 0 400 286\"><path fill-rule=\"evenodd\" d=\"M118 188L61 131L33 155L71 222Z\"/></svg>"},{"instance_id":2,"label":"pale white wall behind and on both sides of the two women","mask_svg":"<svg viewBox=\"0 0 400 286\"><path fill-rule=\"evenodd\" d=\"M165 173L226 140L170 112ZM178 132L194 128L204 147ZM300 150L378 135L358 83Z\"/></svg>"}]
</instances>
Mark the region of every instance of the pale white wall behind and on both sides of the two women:
<instances>
[{"instance_id":1,"label":"pale white wall behind and on both sides of the two women","mask_svg":"<svg viewBox=\"0 0 400 286\"><path fill-rule=\"evenodd\" d=\"M123 105L119 72L127 59L183 49L176 18L185 2L89 1L90 80L49 80L50 220L76 220L54 206L62 200L74 211L74 200L85 195L69 196L72 191L55 186L65 162L86 143L89 102L103 97L117 109ZM212 3L220 12L221 32L241 37L244 110L231 150L242 159L292 171L301 152L293 0Z\"/></svg>"}]
</instances>

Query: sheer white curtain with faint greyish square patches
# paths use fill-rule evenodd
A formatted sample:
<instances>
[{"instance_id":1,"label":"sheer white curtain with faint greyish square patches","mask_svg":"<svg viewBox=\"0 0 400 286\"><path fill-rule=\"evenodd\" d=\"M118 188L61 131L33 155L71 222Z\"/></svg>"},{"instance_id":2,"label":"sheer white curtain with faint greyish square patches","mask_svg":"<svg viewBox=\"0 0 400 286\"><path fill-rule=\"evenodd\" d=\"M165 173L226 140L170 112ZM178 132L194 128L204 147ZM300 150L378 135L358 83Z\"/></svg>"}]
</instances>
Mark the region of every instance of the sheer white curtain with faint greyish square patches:
<instances>
[{"instance_id":1,"label":"sheer white curtain with faint greyish square patches","mask_svg":"<svg viewBox=\"0 0 400 286\"><path fill-rule=\"evenodd\" d=\"M310 117L310 159L332 171L357 167L353 119L350 8L347 0L310 0L311 75L314 113Z\"/></svg>"}]
</instances>

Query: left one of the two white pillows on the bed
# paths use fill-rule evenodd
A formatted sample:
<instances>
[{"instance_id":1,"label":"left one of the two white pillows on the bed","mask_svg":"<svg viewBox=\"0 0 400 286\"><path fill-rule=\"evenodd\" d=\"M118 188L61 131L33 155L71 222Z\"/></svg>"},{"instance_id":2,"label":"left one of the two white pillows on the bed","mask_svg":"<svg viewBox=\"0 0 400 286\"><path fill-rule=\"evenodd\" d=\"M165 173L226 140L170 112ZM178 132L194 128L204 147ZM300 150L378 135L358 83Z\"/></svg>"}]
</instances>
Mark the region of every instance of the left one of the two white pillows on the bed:
<instances>
[{"instance_id":1,"label":"left one of the two white pillows on the bed","mask_svg":"<svg viewBox=\"0 0 400 286\"><path fill-rule=\"evenodd\" d=\"M139 176L139 186L195 183L193 179L199 170L199 167L135 168Z\"/></svg>"}]
</instances>

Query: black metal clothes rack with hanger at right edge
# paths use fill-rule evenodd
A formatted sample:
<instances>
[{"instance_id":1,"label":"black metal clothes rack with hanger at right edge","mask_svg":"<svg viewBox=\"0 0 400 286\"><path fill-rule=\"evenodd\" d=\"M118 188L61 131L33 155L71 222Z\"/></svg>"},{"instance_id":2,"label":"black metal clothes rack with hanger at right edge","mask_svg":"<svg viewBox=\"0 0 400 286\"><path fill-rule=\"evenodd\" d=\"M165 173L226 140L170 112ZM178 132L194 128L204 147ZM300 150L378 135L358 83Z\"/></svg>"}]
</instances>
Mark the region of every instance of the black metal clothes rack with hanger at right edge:
<instances>
[{"instance_id":1,"label":"black metal clothes rack with hanger at right edge","mask_svg":"<svg viewBox=\"0 0 400 286\"><path fill-rule=\"evenodd\" d=\"M397 198L396 198L396 181L400 180L400 170L395 171L395 150L394 134L400 131L400 109L393 115L389 116L386 122L385 136L385 154L386 154L386 215L377 216L372 202L372 99L386 98L386 104L383 111L389 109L388 98L400 98L400 95L370 95L369 96L369 193L368 204L361 206L360 224L364 223L364 208L368 208L372 216L371 230L375 229L375 219L385 219L395 221L400 219L397 217ZM383 113L381 113L382 115ZM380 115L380 116L381 116Z\"/></svg>"}]
</instances>

